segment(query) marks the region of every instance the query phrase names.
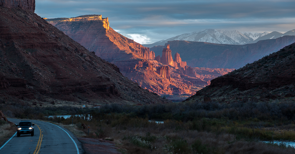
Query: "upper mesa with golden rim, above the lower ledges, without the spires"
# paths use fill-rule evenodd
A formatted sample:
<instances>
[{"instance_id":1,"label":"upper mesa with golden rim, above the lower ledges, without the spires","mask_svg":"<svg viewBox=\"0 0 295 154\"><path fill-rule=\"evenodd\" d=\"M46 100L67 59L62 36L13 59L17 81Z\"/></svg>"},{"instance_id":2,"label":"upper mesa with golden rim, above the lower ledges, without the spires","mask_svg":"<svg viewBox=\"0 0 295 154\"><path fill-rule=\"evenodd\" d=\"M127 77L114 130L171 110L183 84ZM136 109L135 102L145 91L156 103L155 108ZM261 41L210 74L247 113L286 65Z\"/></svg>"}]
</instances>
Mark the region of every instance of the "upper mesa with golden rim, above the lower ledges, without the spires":
<instances>
[{"instance_id":1,"label":"upper mesa with golden rim, above the lower ledges, without the spires","mask_svg":"<svg viewBox=\"0 0 295 154\"><path fill-rule=\"evenodd\" d=\"M128 39L109 27L108 18L101 15L84 15L75 18L46 19L50 24L79 42L89 51L109 62L114 60L143 58L153 60L150 48Z\"/></svg>"}]
</instances>

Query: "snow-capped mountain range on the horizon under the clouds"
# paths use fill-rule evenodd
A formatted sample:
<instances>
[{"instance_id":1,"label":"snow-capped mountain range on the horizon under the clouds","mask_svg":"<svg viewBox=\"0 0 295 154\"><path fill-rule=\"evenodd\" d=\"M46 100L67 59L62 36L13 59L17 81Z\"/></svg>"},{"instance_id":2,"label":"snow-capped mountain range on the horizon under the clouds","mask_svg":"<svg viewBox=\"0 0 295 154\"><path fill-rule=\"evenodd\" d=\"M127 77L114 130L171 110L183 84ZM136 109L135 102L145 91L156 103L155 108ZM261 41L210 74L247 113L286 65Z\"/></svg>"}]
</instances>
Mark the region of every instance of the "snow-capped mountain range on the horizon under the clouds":
<instances>
[{"instance_id":1,"label":"snow-capped mountain range on the horizon under the clouds","mask_svg":"<svg viewBox=\"0 0 295 154\"><path fill-rule=\"evenodd\" d=\"M194 42L208 42L216 44L233 44L233 45L243 45L256 43L260 40L265 39L276 39L285 35L295 35L295 29L288 31L286 33L280 32L244 32L233 30L216 30L216 29L206 29L201 32L192 32L189 34L181 34L170 39L161 40L153 44L142 44L144 47L154 47L158 45L165 45L168 41L183 40L183 41L194 41Z\"/></svg>"}]
</instances>

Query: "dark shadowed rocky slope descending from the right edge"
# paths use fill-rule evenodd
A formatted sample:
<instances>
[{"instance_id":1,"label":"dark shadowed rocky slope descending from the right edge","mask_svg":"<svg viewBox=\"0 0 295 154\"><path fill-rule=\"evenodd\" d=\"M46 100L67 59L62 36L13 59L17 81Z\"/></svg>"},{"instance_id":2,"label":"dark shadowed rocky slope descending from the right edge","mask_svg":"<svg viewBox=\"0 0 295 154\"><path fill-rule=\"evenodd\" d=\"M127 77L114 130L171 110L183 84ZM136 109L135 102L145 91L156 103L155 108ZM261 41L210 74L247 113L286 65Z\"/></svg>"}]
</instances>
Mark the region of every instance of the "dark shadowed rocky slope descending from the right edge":
<instances>
[{"instance_id":1,"label":"dark shadowed rocky slope descending from the right edge","mask_svg":"<svg viewBox=\"0 0 295 154\"><path fill-rule=\"evenodd\" d=\"M295 96L295 43L245 67L211 80L186 101L205 96L219 102L276 101Z\"/></svg>"}]
</instances>

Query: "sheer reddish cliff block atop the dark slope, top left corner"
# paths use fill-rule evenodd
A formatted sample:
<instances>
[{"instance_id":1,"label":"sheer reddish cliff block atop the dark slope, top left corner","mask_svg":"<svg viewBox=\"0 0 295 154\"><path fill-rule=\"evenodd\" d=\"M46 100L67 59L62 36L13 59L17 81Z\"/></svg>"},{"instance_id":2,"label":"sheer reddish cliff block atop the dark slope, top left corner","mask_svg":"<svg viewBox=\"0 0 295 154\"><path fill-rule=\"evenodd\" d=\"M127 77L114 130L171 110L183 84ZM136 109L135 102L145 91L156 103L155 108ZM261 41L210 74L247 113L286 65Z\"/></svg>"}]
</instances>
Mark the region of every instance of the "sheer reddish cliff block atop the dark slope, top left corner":
<instances>
[{"instance_id":1,"label":"sheer reddish cliff block atop the dark slope, top left corner","mask_svg":"<svg viewBox=\"0 0 295 154\"><path fill-rule=\"evenodd\" d=\"M35 12L35 0L1 0L0 6L8 8L22 8Z\"/></svg>"}]
</instances>

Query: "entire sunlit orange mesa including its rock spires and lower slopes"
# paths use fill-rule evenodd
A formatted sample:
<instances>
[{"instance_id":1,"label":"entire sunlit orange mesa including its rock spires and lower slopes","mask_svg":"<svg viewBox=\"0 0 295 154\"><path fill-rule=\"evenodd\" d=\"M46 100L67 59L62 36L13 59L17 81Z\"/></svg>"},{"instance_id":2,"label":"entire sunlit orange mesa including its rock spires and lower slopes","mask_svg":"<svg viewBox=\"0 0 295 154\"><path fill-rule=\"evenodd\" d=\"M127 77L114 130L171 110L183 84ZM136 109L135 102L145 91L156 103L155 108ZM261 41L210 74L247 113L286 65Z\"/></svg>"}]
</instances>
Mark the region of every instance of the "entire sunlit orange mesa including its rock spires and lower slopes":
<instances>
[{"instance_id":1,"label":"entire sunlit orange mesa including its rock spires and lower slopes","mask_svg":"<svg viewBox=\"0 0 295 154\"><path fill-rule=\"evenodd\" d=\"M150 48L122 36L111 27L107 29L101 21L103 19L107 18L85 15L46 20L97 56L115 64L125 77L151 92L160 95L192 95L213 79L213 76L200 77L198 71L187 66L178 53L173 60L169 44L165 49L162 48L162 57L155 57Z\"/></svg>"}]
</instances>

